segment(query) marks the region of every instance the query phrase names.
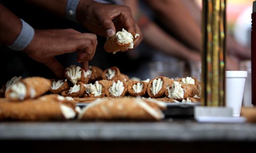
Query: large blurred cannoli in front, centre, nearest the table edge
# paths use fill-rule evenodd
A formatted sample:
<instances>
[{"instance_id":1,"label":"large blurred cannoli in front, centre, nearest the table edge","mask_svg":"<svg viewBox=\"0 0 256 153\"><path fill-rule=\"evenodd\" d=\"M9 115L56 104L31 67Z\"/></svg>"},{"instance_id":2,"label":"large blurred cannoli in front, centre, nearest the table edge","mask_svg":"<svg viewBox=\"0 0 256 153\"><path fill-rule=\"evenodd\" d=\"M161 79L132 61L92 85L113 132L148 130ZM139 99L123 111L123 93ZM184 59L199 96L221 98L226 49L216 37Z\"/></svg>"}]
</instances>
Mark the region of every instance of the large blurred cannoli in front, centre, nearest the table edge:
<instances>
[{"instance_id":1,"label":"large blurred cannoli in front, centre, nearest the table edge","mask_svg":"<svg viewBox=\"0 0 256 153\"><path fill-rule=\"evenodd\" d=\"M78 119L134 119L161 120L164 114L140 98L97 99L83 108Z\"/></svg>"}]
</instances>

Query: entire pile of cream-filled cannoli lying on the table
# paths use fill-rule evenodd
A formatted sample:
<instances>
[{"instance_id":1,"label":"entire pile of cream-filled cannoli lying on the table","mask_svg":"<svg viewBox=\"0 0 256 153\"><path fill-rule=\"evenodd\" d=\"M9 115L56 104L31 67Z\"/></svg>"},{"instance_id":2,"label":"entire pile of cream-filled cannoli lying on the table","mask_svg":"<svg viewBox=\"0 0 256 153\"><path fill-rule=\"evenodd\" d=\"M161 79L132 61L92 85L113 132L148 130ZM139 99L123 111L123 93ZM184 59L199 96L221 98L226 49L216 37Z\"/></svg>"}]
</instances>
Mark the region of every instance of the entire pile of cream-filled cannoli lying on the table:
<instances>
[{"instance_id":1,"label":"entire pile of cream-filled cannoli lying on the table","mask_svg":"<svg viewBox=\"0 0 256 153\"><path fill-rule=\"evenodd\" d=\"M166 102L199 102L197 79L129 79L118 67L71 65L66 79L13 77L0 90L0 120L161 120ZM89 103L81 109L76 103Z\"/></svg>"}]
</instances>

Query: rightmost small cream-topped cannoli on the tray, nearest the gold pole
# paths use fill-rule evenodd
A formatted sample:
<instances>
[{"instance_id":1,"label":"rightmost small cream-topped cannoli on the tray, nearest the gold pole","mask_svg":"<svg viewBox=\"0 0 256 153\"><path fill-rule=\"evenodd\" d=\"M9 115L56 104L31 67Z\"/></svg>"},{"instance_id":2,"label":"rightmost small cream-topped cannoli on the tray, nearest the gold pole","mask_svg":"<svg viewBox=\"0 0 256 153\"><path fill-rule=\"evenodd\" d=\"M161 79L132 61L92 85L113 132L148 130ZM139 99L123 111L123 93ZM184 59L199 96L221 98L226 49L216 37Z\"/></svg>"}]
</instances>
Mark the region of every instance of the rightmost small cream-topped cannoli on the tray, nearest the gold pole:
<instances>
[{"instance_id":1,"label":"rightmost small cream-topped cannoli on the tray, nearest the gold pole","mask_svg":"<svg viewBox=\"0 0 256 153\"><path fill-rule=\"evenodd\" d=\"M165 95L176 100L194 97L198 93L197 86L174 81L171 88L167 88Z\"/></svg>"}]
</instances>

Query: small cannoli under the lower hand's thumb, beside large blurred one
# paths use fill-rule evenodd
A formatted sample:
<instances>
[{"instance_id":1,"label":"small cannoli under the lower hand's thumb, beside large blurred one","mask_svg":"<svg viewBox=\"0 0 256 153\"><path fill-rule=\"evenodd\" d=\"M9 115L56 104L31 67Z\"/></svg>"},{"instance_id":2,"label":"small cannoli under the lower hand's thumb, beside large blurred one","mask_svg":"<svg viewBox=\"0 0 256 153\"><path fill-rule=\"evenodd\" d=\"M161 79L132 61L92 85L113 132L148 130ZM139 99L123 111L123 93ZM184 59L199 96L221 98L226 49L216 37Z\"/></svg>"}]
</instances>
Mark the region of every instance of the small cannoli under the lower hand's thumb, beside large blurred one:
<instances>
[{"instance_id":1,"label":"small cannoli under the lower hand's thumb, beside large blurred one","mask_svg":"<svg viewBox=\"0 0 256 153\"><path fill-rule=\"evenodd\" d=\"M50 79L52 81L52 85L50 87L50 92L52 93L62 93L63 91L69 89L69 83L67 80L57 80L57 79Z\"/></svg>"}]
</instances>

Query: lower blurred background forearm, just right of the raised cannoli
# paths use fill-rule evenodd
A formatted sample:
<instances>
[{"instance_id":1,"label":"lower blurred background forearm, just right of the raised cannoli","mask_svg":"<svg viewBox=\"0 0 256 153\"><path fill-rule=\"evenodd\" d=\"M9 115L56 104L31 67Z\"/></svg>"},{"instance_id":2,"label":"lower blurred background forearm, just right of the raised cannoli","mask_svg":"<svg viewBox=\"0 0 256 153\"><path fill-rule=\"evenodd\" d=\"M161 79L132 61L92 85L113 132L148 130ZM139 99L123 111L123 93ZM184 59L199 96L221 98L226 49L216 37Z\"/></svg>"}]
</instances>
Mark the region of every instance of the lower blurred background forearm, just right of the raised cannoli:
<instances>
[{"instance_id":1,"label":"lower blurred background forearm, just right of the raised cannoli","mask_svg":"<svg viewBox=\"0 0 256 153\"><path fill-rule=\"evenodd\" d=\"M154 23L142 30L144 40L159 51L175 56L183 60L198 60L198 57L191 56L191 50L167 35L161 28Z\"/></svg>"}]
</instances>

